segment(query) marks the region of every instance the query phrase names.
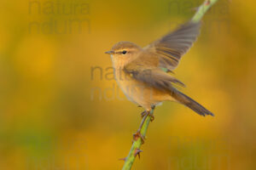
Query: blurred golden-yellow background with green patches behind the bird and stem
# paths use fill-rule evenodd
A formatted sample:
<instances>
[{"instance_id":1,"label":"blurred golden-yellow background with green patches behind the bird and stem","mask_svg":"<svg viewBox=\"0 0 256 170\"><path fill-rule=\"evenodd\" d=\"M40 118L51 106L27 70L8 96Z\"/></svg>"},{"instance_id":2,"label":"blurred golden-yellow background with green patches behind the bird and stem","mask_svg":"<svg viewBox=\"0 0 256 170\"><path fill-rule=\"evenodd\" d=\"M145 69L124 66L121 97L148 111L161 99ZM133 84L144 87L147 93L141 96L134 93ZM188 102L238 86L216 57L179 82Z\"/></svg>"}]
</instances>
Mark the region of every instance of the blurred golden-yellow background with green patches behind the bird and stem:
<instances>
[{"instance_id":1,"label":"blurred golden-yellow background with green patches behind the bird and stem","mask_svg":"<svg viewBox=\"0 0 256 170\"><path fill-rule=\"evenodd\" d=\"M201 3L3 0L0 169L121 169L143 109L117 88L104 52L153 42ZM175 72L215 116L157 107L134 169L255 169L255 5L219 0L208 11Z\"/></svg>"}]
</instances>

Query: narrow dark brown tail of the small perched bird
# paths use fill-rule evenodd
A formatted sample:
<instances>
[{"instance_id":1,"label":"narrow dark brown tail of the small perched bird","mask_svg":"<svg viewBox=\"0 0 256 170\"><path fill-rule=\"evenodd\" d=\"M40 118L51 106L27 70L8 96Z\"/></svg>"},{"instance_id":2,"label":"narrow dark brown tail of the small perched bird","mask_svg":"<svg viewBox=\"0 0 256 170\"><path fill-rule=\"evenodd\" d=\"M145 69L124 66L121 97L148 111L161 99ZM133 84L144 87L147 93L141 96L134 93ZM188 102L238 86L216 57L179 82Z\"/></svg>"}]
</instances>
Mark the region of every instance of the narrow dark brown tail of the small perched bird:
<instances>
[{"instance_id":1,"label":"narrow dark brown tail of the small perched bird","mask_svg":"<svg viewBox=\"0 0 256 170\"><path fill-rule=\"evenodd\" d=\"M201 116L212 115L211 111L208 111L204 106L197 103L194 99L189 98L189 96L179 92L176 88L172 88L172 97L176 99L179 103L188 106L191 110L195 111Z\"/></svg>"}]
</instances>

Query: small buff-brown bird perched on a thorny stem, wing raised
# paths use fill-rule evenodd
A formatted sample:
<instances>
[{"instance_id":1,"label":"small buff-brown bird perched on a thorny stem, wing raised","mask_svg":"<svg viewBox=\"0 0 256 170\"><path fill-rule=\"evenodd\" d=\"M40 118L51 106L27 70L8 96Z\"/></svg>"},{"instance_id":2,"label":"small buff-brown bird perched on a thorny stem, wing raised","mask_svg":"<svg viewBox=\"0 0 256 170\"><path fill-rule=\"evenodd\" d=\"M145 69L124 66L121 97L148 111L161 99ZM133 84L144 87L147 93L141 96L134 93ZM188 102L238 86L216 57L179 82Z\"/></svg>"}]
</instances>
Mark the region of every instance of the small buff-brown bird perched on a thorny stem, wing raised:
<instances>
[{"instance_id":1,"label":"small buff-brown bird perched on a thorny stem, wing raised","mask_svg":"<svg viewBox=\"0 0 256 170\"><path fill-rule=\"evenodd\" d=\"M200 26L200 22L189 21L145 48L132 42L114 44L106 54L111 54L116 81L126 97L147 113L168 100L186 105L201 116L213 116L211 111L178 91L174 86L184 86L183 82L168 73L195 42Z\"/></svg>"}]
</instances>

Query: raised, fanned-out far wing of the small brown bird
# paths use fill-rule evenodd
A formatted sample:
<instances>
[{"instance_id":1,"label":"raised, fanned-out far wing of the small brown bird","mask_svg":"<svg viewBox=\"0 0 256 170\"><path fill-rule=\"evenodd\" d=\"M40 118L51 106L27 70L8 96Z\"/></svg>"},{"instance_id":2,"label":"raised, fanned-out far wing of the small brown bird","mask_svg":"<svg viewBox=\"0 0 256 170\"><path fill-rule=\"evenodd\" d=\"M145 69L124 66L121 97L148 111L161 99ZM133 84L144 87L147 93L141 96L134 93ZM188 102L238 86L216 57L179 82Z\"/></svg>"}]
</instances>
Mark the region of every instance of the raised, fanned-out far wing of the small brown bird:
<instances>
[{"instance_id":1,"label":"raised, fanned-out far wing of the small brown bird","mask_svg":"<svg viewBox=\"0 0 256 170\"><path fill-rule=\"evenodd\" d=\"M159 40L150 43L144 50L156 54L159 58L158 66L168 71L174 70L182 55L185 54L199 35L201 23L191 22L168 33ZM150 57L150 55L148 56Z\"/></svg>"}]
</instances>

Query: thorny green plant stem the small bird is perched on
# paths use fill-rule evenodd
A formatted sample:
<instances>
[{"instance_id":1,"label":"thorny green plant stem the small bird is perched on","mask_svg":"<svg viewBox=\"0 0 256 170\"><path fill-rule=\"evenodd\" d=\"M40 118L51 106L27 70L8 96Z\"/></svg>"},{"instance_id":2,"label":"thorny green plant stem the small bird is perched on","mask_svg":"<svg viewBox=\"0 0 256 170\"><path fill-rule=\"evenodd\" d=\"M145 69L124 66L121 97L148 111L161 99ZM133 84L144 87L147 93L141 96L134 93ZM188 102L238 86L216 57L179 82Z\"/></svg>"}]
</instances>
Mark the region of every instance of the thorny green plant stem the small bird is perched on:
<instances>
[{"instance_id":1,"label":"thorny green plant stem the small bird is perched on","mask_svg":"<svg viewBox=\"0 0 256 170\"><path fill-rule=\"evenodd\" d=\"M201 4L201 6L197 9L195 15L192 18L192 22L199 22L201 18L206 14L207 10L212 7L214 3L216 3L218 0L205 0L204 3ZM154 110L152 110L151 114L153 115ZM148 130L148 125L151 120L151 116L148 115L146 117L145 122L143 123L142 129L141 129L141 134L143 136L146 136L147 130ZM136 141L133 142L131 145L131 150L128 154L128 156L125 158L125 165L122 168L122 170L130 170L132 167L133 162L135 161L136 158L136 150L139 150L143 144L142 139L137 139Z\"/></svg>"}]
</instances>

